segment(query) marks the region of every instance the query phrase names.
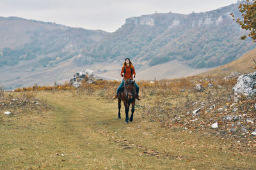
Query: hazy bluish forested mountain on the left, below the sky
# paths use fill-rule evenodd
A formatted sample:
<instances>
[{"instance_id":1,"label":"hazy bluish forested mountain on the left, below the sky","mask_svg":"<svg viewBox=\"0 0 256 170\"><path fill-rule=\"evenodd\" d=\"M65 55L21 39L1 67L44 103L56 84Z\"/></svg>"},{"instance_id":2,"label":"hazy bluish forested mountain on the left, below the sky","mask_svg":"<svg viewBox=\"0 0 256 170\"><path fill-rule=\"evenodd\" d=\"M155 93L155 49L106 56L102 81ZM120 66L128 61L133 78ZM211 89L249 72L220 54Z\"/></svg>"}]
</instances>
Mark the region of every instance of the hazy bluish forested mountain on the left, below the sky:
<instances>
[{"instance_id":1,"label":"hazy bluish forested mountain on the left, below the sky","mask_svg":"<svg viewBox=\"0 0 256 170\"><path fill-rule=\"evenodd\" d=\"M35 60L31 66L54 67L61 61L90 50L104 31L66 27L50 22L0 17L0 67L16 66L22 60Z\"/></svg>"}]
</instances>

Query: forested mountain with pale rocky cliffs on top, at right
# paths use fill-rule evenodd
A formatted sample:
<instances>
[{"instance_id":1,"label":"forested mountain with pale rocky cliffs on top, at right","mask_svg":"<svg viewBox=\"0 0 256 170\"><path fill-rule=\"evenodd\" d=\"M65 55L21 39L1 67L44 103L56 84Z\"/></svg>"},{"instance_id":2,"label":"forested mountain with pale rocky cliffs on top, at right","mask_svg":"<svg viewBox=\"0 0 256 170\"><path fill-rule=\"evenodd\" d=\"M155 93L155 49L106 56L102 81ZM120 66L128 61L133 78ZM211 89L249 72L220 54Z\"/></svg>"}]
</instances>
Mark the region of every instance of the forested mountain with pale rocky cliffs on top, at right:
<instances>
[{"instance_id":1,"label":"forested mountain with pale rocky cliffs on top, at right","mask_svg":"<svg viewBox=\"0 0 256 170\"><path fill-rule=\"evenodd\" d=\"M198 68L220 66L255 48L252 40L241 41L244 31L230 16L232 12L239 15L237 6L189 15L170 12L128 18L84 56L110 61L131 57L137 64L150 66L170 60Z\"/></svg>"}]
</instances>

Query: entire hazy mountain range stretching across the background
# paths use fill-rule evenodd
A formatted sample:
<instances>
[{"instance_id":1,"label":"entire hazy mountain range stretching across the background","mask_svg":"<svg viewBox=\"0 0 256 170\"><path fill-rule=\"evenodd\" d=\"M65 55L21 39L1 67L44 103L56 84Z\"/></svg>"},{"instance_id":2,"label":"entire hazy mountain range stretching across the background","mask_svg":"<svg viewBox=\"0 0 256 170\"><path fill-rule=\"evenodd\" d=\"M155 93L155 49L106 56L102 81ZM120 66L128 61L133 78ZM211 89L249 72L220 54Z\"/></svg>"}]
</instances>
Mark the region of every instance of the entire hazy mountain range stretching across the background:
<instances>
[{"instance_id":1,"label":"entire hazy mountain range stretching across the background","mask_svg":"<svg viewBox=\"0 0 256 170\"><path fill-rule=\"evenodd\" d=\"M244 31L230 18L231 12L239 16L237 6L238 3L189 15L154 13L131 17L111 33L0 17L1 83L9 89L28 86L39 82L28 76L40 73L40 82L48 85L63 81L72 74L70 71L84 67L118 78L125 57L131 58L137 72L143 73L141 77L148 79L150 76L146 75L150 75L149 68L153 66L172 71L169 67L179 62L180 71L172 72L182 72L186 67L188 72L179 76L187 76L196 69L227 64L256 47L250 39L240 40ZM57 72L63 76L56 75ZM155 74L159 78L161 75ZM178 78L177 75L164 73L163 78Z\"/></svg>"}]
</instances>

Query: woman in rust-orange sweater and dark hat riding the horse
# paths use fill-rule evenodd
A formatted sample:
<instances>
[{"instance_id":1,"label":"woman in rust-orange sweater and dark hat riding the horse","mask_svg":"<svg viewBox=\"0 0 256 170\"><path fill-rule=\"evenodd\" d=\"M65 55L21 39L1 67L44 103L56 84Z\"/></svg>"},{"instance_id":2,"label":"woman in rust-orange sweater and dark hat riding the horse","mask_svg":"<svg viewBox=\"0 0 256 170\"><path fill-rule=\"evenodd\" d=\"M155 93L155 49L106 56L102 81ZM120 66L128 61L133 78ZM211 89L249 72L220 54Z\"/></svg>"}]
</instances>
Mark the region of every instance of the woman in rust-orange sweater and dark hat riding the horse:
<instances>
[{"instance_id":1,"label":"woman in rust-orange sweater and dark hat riding the horse","mask_svg":"<svg viewBox=\"0 0 256 170\"><path fill-rule=\"evenodd\" d=\"M135 69L134 69L134 66L132 65L131 60L129 58L126 58L122 67L121 76L124 77L125 80L127 79L133 80L133 78L135 78L135 75L136 75ZM140 100L141 97L139 96L139 87L135 82L134 82L134 85L136 87L136 99ZM116 99L116 97L118 96L118 93L121 92L123 86L124 86L124 80L122 80L122 83L119 85L118 89L116 90L116 95L113 96L113 99Z\"/></svg>"}]
</instances>

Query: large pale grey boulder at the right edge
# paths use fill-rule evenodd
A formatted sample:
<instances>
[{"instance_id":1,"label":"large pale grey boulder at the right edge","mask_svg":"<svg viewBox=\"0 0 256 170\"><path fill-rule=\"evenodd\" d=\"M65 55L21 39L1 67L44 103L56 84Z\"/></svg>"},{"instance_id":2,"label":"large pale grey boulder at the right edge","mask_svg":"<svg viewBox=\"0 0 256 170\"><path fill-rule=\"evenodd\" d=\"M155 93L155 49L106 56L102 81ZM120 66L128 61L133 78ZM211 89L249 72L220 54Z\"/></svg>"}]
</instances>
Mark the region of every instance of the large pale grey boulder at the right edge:
<instances>
[{"instance_id":1,"label":"large pale grey boulder at the right edge","mask_svg":"<svg viewBox=\"0 0 256 170\"><path fill-rule=\"evenodd\" d=\"M255 87L256 72L239 76L233 90L236 96L239 94L243 94L244 96L254 96L256 95Z\"/></svg>"}]
</instances>

